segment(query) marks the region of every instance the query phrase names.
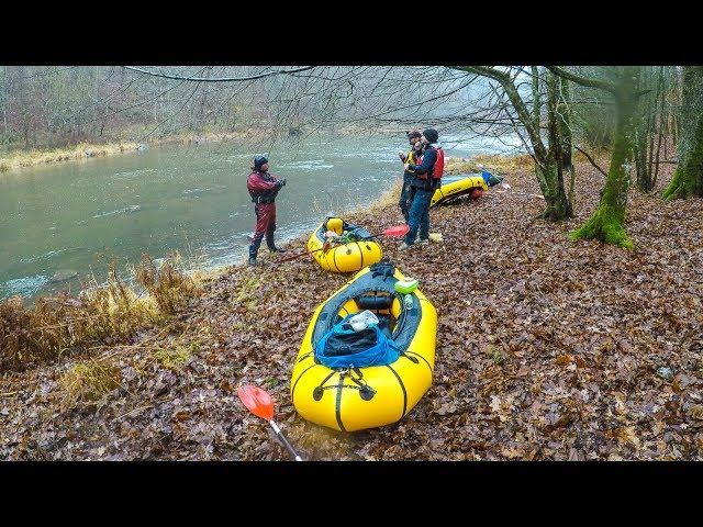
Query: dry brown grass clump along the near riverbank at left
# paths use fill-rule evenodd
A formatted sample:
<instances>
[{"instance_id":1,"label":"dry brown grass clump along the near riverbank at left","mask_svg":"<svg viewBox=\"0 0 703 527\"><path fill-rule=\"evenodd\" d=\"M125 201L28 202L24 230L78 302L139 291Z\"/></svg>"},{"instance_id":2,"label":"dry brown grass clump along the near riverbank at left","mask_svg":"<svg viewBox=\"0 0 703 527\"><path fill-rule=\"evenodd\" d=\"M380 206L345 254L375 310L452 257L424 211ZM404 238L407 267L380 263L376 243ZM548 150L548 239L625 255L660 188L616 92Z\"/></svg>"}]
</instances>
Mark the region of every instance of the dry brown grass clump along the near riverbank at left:
<instances>
[{"instance_id":1,"label":"dry brown grass clump along the near riverbank at left","mask_svg":"<svg viewBox=\"0 0 703 527\"><path fill-rule=\"evenodd\" d=\"M148 291L138 296L110 266L105 285L78 296L60 293L40 298L34 306L21 296L0 303L0 372L59 360L91 347L129 343L141 328L174 315L199 293L199 287L176 269L175 256L159 269L144 257L135 270Z\"/></svg>"}]
</instances>

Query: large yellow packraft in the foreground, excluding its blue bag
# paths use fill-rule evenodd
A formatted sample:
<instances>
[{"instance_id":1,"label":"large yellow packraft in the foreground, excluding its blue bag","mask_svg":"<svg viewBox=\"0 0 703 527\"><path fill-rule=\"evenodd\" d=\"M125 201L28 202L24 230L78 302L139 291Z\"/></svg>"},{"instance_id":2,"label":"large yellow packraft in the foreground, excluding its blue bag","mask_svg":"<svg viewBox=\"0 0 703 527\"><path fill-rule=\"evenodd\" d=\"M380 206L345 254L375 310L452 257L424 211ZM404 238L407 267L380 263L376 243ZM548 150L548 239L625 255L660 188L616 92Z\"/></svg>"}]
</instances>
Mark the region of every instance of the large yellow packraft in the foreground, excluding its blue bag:
<instances>
[{"instance_id":1,"label":"large yellow packraft in the foreground, excluding its blue bag","mask_svg":"<svg viewBox=\"0 0 703 527\"><path fill-rule=\"evenodd\" d=\"M395 281L403 278L390 264L367 267L317 306L290 382L293 406L302 417L342 431L373 428L400 421L425 394L435 366L437 312L417 289L410 293L412 307L405 310L394 291ZM353 369L319 363L315 344L344 316L364 309L388 322L402 351L398 360Z\"/></svg>"}]
</instances>

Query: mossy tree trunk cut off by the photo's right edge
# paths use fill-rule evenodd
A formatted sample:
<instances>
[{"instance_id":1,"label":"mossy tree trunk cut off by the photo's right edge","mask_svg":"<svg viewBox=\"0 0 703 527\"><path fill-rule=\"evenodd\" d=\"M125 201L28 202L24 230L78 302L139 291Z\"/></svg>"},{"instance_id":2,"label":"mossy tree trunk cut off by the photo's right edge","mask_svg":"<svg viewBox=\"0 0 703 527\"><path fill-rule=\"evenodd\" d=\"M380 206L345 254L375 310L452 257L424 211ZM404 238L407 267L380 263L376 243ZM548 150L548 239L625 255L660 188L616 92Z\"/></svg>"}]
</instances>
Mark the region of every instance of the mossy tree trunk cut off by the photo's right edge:
<instances>
[{"instance_id":1,"label":"mossy tree trunk cut off by the photo's right edge","mask_svg":"<svg viewBox=\"0 0 703 527\"><path fill-rule=\"evenodd\" d=\"M678 165L665 200L703 197L703 66L683 67Z\"/></svg>"}]
</instances>

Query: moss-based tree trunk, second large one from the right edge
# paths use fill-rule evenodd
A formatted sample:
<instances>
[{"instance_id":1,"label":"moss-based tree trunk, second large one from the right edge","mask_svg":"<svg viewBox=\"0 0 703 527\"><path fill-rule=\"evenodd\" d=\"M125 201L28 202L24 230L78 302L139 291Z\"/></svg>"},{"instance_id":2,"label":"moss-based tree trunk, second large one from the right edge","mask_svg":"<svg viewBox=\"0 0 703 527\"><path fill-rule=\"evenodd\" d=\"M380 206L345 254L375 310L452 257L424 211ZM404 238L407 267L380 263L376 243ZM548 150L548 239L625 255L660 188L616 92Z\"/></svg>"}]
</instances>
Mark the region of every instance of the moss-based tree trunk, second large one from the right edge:
<instances>
[{"instance_id":1,"label":"moss-based tree trunk, second large one from the right edge","mask_svg":"<svg viewBox=\"0 0 703 527\"><path fill-rule=\"evenodd\" d=\"M571 233L572 239L599 239L621 247L633 247L624 224L629 187L628 165L633 156L633 117L637 108L637 67L627 66L618 71L615 131L605 187L595 213L583 226Z\"/></svg>"}]
</instances>

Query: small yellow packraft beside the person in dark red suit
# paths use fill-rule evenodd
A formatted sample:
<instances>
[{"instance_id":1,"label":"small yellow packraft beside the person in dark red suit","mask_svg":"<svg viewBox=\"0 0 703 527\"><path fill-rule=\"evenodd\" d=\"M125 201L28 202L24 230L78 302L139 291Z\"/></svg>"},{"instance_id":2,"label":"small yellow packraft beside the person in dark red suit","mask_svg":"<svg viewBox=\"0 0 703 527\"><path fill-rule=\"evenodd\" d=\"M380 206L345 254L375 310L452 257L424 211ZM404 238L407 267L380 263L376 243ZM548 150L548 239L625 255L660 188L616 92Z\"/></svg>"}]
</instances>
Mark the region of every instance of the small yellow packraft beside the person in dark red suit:
<instances>
[{"instance_id":1,"label":"small yellow packraft beside the person in dark red suit","mask_svg":"<svg viewBox=\"0 0 703 527\"><path fill-rule=\"evenodd\" d=\"M333 231L339 236L347 233L347 235L358 238L358 240L344 245L333 245L327 250L320 250L325 243L324 234L327 231ZM383 256L381 246L373 240L364 239L367 236L370 236L370 233L358 225L346 223L341 217L328 217L310 236L308 251L312 253L315 261L326 271L358 271L366 266L376 264Z\"/></svg>"}]
</instances>

